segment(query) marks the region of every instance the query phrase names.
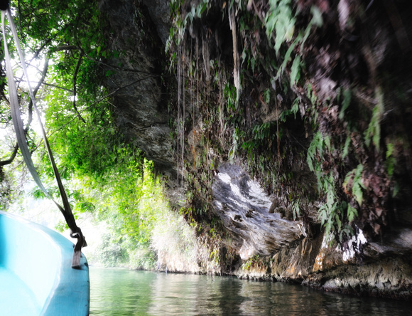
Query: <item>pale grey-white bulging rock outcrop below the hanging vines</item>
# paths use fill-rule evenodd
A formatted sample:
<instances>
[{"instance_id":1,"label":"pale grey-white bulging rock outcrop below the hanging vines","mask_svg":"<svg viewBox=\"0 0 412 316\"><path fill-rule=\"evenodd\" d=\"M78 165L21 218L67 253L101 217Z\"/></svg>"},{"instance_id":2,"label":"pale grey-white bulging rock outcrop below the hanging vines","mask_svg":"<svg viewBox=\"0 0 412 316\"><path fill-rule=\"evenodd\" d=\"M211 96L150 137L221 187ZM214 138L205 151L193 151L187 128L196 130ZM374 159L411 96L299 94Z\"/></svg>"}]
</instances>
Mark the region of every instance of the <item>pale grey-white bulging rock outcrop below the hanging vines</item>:
<instances>
[{"instance_id":1,"label":"pale grey-white bulging rock outcrop below the hanging vines","mask_svg":"<svg viewBox=\"0 0 412 316\"><path fill-rule=\"evenodd\" d=\"M240 167L222 164L212 190L216 214L237 240L242 259L269 256L303 236L302 223L271 211L269 196Z\"/></svg>"}]
</instances>

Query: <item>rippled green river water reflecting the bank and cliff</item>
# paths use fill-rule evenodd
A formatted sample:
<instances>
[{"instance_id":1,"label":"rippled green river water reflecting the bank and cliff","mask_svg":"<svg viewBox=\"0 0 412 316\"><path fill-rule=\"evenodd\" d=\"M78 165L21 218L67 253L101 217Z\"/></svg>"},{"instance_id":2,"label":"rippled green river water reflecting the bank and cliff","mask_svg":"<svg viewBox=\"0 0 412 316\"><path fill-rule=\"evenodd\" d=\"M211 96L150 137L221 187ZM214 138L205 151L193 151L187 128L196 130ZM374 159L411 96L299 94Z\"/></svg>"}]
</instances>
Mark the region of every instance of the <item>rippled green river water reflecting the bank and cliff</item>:
<instances>
[{"instance_id":1,"label":"rippled green river water reflecting the bank and cliff","mask_svg":"<svg viewBox=\"0 0 412 316\"><path fill-rule=\"evenodd\" d=\"M411 315L411 302L300 285L90 267L90 315Z\"/></svg>"}]
</instances>

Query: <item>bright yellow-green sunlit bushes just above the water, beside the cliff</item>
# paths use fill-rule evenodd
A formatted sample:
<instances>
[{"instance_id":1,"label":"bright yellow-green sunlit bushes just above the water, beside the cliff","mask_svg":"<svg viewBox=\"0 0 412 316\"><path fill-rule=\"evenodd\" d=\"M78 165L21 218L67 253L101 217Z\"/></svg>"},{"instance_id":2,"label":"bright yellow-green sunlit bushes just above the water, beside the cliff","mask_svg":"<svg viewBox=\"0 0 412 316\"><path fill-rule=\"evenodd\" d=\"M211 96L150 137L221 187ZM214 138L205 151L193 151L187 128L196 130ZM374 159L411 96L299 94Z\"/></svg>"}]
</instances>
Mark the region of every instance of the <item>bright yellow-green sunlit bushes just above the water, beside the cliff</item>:
<instances>
[{"instance_id":1,"label":"bright yellow-green sunlit bushes just above the water, beside the cliff","mask_svg":"<svg viewBox=\"0 0 412 316\"><path fill-rule=\"evenodd\" d=\"M163 185L153 176L153 162L135 161L133 155L124 148L119 162L99 177L77 174L75 182L87 201L87 211L109 227L107 241L94 260L149 269L155 267L155 252L159 256L178 252L188 260L195 252L193 229L170 210Z\"/></svg>"}]
</instances>

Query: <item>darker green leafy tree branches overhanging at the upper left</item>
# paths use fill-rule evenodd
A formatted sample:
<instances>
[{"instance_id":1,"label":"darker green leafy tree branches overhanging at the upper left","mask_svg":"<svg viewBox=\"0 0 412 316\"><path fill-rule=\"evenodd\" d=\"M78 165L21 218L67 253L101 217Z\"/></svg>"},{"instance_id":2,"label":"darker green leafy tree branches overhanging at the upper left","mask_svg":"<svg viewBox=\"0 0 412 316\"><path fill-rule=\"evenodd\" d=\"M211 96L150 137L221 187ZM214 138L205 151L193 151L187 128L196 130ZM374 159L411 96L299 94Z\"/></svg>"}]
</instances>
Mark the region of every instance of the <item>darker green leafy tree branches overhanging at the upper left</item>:
<instances>
[{"instance_id":1,"label":"darker green leafy tree branches overhanging at the upper left","mask_svg":"<svg viewBox=\"0 0 412 316\"><path fill-rule=\"evenodd\" d=\"M105 49L103 28L107 24L99 16L97 3L11 1L11 6L18 8L17 25L26 56L34 55L31 63L44 67L38 71L45 75L46 84L39 86L36 98L45 115L46 130L52 131L50 143L63 178L69 179L73 172L104 173L114 164L114 152L121 139L116 136L108 103L96 102L105 95L97 65L103 56L115 54ZM26 88L21 86L19 91L23 112L27 114ZM76 121L79 111L84 124ZM28 139L34 151L39 139L31 129ZM43 157L43 152L37 149L33 157ZM45 164L40 165L40 173L52 174L45 157L42 162Z\"/></svg>"}]
</instances>

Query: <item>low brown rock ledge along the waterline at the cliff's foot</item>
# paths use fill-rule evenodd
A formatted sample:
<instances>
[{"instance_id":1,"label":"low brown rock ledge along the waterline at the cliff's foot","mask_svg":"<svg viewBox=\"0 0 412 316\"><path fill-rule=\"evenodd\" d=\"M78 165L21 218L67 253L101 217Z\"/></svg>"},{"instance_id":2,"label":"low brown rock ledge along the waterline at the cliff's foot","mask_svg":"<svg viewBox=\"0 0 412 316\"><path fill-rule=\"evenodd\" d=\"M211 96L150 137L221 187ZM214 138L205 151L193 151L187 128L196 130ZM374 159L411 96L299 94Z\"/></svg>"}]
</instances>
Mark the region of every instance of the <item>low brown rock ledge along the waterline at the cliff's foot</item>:
<instances>
[{"instance_id":1,"label":"low brown rock ledge along the waterline at the cliff's foot","mask_svg":"<svg viewBox=\"0 0 412 316\"><path fill-rule=\"evenodd\" d=\"M274 256L250 260L234 270L238 278L298 283L318 290L412 300L411 255L371 260L343 260L344 252L327 248L323 236L304 238Z\"/></svg>"}]
</instances>

